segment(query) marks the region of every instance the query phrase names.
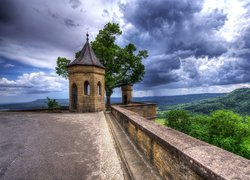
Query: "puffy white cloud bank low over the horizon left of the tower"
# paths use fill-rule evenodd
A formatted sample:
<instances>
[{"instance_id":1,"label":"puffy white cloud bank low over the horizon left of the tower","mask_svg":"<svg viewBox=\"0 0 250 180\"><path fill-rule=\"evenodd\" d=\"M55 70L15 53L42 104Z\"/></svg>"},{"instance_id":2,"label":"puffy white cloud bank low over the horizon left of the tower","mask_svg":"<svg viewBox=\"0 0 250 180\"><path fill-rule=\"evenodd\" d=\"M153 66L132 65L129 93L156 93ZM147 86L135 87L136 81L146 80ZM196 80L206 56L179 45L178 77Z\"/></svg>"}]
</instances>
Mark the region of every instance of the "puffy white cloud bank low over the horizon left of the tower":
<instances>
[{"instance_id":1,"label":"puffy white cloud bank low over the horizon left of the tower","mask_svg":"<svg viewBox=\"0 0 250 180\"><path fill-rule=\"evenodd\" d=\"M0 96L17 96L24 94L43 94L66 91L68 81L51 73L25 73L16 80L0 79Z\"/></svg>"}]
</instances>

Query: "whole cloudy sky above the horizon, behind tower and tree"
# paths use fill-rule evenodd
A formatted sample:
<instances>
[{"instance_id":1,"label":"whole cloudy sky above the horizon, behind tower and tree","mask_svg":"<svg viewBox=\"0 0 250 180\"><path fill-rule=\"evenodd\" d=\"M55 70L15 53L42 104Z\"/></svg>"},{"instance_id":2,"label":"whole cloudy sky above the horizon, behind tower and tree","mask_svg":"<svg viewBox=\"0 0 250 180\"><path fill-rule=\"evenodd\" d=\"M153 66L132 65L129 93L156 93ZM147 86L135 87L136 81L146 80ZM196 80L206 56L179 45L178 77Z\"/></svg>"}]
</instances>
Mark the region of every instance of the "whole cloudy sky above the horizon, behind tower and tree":
<instances>
[{"instance_id":1,"label":"whole cloudy sky above the horizon, behind tower and tree","mask_svg":"<svg viewBox=\"0 0 250 180\"><path fill-rule=\"evenodd\" d=\"M249 0L1 0L0 103L68 98L56 58L73 60L108 22L119 45L149 52L134 96L250 87Z\"/></svg>"}]
</instances>

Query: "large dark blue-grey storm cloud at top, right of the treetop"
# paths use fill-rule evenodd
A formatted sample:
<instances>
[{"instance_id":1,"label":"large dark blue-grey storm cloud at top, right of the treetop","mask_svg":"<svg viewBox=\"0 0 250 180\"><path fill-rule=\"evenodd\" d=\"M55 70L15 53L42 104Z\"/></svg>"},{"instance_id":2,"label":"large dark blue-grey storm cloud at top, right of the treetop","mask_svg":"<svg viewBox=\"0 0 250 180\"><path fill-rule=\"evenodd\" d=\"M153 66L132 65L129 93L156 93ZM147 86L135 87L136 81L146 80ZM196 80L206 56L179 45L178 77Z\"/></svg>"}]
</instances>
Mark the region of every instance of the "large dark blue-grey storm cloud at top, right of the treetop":
<instances>
[{"instance_id":1,"label":"large dark blue-grey storm cloud at top, right of the treetop","mask_svg":"<svg viewBox=\"0 0 250 180\"><path fill-rule=\"evenodd\" d=\"M147 33L148 42L157 39L165 53L192 50L196 57L219 56L226 52L223 42L211 39L214 30L226 20L223 11L198 16L203 1L138 1L122 6L127 22L139 33ZM130 34L134 36L135 34ZM129 37L130 38L130 37ZM145 37L142 37L144 41ZM137 39L137 42L141 39Z\"/></svg>"}]
</instances>

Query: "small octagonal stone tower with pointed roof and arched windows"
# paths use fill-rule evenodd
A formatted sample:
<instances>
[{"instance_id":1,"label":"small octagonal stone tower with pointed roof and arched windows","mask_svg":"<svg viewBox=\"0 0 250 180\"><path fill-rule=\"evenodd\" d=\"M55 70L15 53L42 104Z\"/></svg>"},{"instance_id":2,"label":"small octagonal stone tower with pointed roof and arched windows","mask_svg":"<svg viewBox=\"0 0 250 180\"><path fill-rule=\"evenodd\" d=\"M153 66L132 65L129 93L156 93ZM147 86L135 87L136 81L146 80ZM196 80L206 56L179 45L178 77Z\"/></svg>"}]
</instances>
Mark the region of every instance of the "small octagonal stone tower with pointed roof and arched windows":
<instances>
[{"instance_id":1,"label":"small octagonal stone tower with pointed roof and arched windows","mask_svg":"<svg viewBox=\"0 0 250 180\"><path fill-rule=\"evenodd\" d=\"M104 75L105 67L97 59L87 41L80 56L68 67L70 111L104 111Z\"/></svg>"}]
</instances>

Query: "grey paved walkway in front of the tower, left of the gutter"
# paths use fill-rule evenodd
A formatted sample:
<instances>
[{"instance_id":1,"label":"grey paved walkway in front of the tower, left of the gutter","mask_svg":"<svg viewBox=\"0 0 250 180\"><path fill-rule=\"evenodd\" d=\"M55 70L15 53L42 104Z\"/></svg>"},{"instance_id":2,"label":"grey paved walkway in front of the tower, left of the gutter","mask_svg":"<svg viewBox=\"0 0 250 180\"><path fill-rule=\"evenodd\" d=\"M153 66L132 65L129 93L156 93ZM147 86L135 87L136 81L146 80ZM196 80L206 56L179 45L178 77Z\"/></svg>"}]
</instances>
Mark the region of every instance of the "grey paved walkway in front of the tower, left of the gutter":
<instances>
[{"instance_id":1,"label":"grey paved walkway in front of the tower, left of the gutter","mask_svg":"<svg viewBox=\"0 0 250 180\"><path fill-rule=\"evenodd\" d=\"M123 179L103 113L0 113L0 179Z\"/></svg>"}]
</instances>

